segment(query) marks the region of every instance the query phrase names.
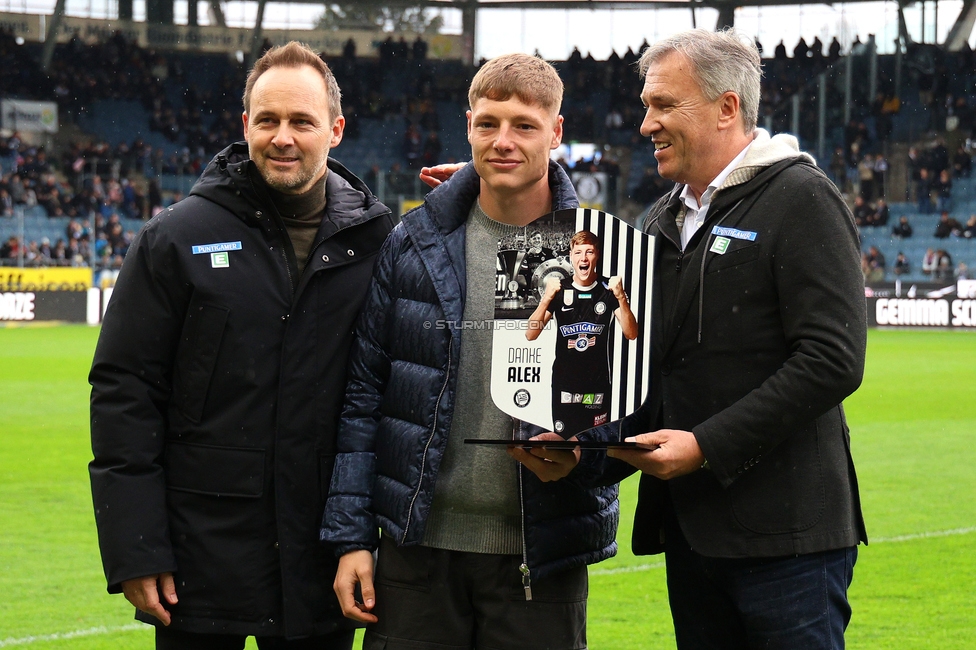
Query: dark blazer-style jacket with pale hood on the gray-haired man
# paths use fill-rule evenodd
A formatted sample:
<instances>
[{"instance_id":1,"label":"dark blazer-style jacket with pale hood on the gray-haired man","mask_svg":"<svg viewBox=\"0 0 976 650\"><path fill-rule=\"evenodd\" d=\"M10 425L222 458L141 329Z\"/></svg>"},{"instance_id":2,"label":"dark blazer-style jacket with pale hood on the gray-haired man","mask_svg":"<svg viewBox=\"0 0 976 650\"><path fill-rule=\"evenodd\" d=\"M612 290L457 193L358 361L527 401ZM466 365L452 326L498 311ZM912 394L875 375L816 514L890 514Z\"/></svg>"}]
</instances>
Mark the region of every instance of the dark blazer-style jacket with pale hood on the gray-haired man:
<instances>
[{"instance_id":1,"label":"dark blazer-style jacket with pale hood on the gray-haired man","mask_svg":"<svg viewBox=\"0 0 976 650\"><path fill-rule=\"evenodd\" d=\"M641 477L635 553L663 550L669 507L707 556L866 542L841 405L860 384L866 345L850 211L795 138L761 129L684 251L681 187L645 219L657 237L648 400L594 435L692 431L708 467L667 482ZM633 471L584 460L581 477Z\"/></svg>"}]
</instances>

